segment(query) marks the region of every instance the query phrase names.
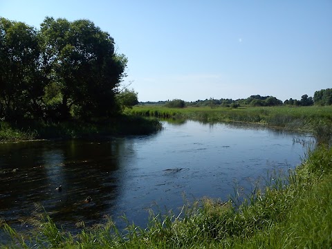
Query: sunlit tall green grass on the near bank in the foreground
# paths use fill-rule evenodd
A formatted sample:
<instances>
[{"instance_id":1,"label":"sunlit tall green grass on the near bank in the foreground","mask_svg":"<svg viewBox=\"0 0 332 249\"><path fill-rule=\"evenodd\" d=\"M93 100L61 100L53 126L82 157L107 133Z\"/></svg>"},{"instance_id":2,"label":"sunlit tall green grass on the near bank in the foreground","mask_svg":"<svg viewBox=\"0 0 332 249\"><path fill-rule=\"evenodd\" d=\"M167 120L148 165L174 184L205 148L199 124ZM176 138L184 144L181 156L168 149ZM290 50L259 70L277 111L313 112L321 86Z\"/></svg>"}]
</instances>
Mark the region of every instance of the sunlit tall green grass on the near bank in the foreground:
<instances>
[{"instance_id":1,"label":"sunlit tall green grass on the near bank in the foreground","mask_svg":"<svg viewBox=\"0 0 332 249\"><path fill-rule=\"evenodd\" d=\"M331 248L332 149L309 151L288 176L271 176L237 205L237 196L221 202L204 199L179 214L151 214L149 226L117 230L111 219L71 234L39 214L35 230L19 234L6 223L12 242L2 248Z\"/></svg>"}]
</instances>

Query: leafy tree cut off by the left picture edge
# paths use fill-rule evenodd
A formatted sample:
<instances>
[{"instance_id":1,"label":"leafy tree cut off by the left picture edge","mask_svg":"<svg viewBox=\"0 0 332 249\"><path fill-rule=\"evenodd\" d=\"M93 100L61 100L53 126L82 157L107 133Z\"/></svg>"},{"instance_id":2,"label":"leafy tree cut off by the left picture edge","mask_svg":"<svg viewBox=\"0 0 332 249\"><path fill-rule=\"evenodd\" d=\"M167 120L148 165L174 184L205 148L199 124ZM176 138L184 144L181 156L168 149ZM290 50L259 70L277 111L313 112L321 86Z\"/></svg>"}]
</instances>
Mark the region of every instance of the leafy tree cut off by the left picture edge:
<instances>
[{"instance_id":1,"label":"leafy tree cut off by the left picture edge","mask_svg":"<svg viewBox=\"0 0 332 249\"><path fill-rule=\"evenodd\" d=\"M37 30L0 18L0 115L8 119L40 113L44 91Z\"/></svg>"}]
</instances>

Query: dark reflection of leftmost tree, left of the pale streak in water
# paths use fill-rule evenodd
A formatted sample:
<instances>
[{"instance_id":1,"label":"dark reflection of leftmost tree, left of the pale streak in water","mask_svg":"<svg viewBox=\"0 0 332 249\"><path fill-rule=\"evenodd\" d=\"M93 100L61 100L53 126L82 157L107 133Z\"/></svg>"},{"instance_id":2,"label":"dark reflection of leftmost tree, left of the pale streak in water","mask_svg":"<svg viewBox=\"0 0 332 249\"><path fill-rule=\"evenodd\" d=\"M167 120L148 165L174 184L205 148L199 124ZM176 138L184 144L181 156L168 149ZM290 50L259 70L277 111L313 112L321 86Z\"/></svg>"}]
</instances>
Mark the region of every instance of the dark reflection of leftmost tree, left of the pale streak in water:
<instances>
[{"instance_id":1,"label":"dark reflection of leftmost tree, left of the pale streak in water","mask_svg":"<svg viewBox=\"0 0 332 249\"><path fill-rule=\"evenodd\" d=\"M0 145L0 219L17 221L48 196L48 181L41 162L44 142Z\"/></svg>"}]
</instances>

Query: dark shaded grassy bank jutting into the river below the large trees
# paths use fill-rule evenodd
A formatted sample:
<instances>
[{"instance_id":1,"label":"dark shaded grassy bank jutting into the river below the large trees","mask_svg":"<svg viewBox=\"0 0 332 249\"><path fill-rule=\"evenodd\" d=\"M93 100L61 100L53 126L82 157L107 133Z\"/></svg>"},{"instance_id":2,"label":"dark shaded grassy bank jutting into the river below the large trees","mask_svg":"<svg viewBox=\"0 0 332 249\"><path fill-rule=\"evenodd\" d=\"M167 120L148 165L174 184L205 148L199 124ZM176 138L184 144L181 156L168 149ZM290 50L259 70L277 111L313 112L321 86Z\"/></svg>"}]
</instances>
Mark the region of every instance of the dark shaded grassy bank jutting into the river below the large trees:
<instances>
[{"instance_id":1,"label":"dark shaded grassy bank jutting into the river below the large trees","mask_svg":"<svg viewBox=\"0 0 332 249\"><path fill-rule=\"evenodd\" d=\"M122 115L98 122L0 122L0 142L44 138L80 138L93 136L148 134L161 129L157 120Z\"/></svg>"}]
</instances>

